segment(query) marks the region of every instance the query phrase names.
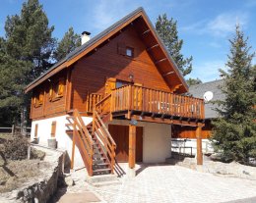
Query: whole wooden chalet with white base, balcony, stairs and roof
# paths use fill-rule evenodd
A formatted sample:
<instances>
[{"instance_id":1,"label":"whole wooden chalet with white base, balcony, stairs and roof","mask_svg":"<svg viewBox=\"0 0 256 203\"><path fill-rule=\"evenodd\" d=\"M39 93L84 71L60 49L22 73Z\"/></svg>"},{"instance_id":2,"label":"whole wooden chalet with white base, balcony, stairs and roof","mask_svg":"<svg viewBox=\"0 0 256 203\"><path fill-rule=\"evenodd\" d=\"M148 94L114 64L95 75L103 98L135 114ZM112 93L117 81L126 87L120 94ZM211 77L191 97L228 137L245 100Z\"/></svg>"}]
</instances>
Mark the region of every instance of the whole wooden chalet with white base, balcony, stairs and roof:
<instances>
[{"instance_id":1,"label":"whole wooden chalet with white base, balcony, stairs and roof","mask_svg":"<svg viewBox=\"0 0 256 203\"><path fill-rule=\"evenodd\" d=\"M182 96L187 90L139 8L27 86L32 138L42 144L56 139L72 168L79 155L94 176L113 173L116 159L129 162L131 170L136 161L164 160L170 155L170 126L188 126L197 133L202 164L204 101Z\"/></svg>"}]
</instances>

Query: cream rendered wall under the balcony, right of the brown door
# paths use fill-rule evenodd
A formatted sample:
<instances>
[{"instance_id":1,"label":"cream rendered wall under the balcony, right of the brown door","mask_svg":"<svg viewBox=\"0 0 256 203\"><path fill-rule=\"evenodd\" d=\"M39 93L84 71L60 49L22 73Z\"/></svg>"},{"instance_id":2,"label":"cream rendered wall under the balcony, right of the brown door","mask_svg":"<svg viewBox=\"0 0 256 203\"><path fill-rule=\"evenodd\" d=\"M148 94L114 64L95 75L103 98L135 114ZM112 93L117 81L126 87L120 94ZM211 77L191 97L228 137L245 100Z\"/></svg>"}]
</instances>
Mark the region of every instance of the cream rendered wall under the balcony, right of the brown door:
<instances>
[{"instance_id":1,"label":"cream rendered wall under the balcony, right of the brown door","mask_svg":"<svg viewBox=\"0 0 256 203\"><path fill-rule=\"evenodd\" d=\"M128 126L128 121L112 121L111 125ZM171 127L170 125L139 122L143 127L143 162L162 163L171 155Z\"/></svg>"}]
</instances>

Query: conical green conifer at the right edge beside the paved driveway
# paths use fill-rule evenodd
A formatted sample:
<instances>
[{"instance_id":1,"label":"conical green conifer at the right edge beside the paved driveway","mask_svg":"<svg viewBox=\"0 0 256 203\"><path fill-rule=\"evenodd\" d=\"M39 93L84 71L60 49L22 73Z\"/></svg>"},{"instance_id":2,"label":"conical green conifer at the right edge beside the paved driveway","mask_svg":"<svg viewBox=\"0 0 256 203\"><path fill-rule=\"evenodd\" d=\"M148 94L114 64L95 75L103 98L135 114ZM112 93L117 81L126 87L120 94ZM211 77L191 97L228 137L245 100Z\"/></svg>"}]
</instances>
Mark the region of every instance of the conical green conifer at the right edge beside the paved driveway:
<instances>
[{"instance_id":1,"label":"conical green conifer at the right edge beside the paved driveway","mask_svg":"<svg viewBox=\"0 0 256 203\"><path fill-rule=\"evenodd\" d=\"M229 42L227 72L221 70L225 99L218 102L220 118L214 123L212 139L224 161L247 163L249 157L256 157L255 69L251 66L254 54L239 25Z\"/></svg>"}]
</instances>

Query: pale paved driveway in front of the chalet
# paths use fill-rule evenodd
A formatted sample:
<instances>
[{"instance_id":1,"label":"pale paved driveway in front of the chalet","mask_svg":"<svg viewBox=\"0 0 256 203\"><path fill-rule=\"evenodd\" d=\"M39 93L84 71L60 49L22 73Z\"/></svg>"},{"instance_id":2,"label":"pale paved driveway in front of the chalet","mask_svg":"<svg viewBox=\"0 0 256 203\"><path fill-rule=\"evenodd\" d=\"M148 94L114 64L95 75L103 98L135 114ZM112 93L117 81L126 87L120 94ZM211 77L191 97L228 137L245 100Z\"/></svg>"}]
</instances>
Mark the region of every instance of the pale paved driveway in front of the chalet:
<instances>
[{"instance_id":1,"label":"pale paved driveway in front of the chalet","mask_svg":"<svg viewBox=\"0 0 256 203\"><path fill-rule=\"evenodd\" d=\"M106 202L256 202L256 181L199 173L179 166L137 166L120 185L90 186Z\"/></svg>"}]
</instances>

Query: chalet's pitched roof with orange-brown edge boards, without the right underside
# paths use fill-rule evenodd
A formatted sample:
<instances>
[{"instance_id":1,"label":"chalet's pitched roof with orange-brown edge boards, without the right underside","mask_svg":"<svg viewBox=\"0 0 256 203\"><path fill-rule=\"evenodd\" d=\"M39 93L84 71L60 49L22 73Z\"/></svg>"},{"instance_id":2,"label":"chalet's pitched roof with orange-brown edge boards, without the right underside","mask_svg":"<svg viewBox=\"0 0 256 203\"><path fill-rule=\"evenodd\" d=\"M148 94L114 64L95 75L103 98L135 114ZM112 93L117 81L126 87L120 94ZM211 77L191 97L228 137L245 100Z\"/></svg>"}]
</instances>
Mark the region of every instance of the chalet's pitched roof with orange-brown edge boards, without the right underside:
<instances>
[{"instance_id":1,"label":"chalet's pitched roof with orange-brown edge boards, without the right underside","mask_svg":"<svg viewBox=\"0 0 256 203\"><path fill-rule=\"evenodd\" d=\"M49 78L50 76L53 76L56 73L60 72L61 70L70 67L77 60L79 60L80 58L85 56L87 53L89 53L90 51L95 49L94 46L98 45L97 43L99 42L99 40L103 39L104 37L105 37L105 40L106 40L111 35L113 35L113 33L112 33L113 30L115 30L117 28L119 28L119 30L120 30L121 28L126 26L126 23L128 24L129 21L131 21L131 20L134 21L135 19L138 19L139 17L145 18L145 20L146 20L147 24L150 26L150 29L153 32L154 36L156 36L156 39L159 42L160 48L164 52L167 61L173 67L173 69L170 70L170 71L173 71L176 74L176 76L178 77L179 82L181 83L181 86L182 86L181 87L182 88L182 92L186 92L188 90L188 85L187 85L184 77L179 72L179 70L178 70L176 64L174 63L172 57L168 54L167 50L165 49L163 43L160 40L160 36L158 35L154 25L152 25L149 17L147 16L147 14L145 13L145 11L144 11L144 9L142 7L139 7L138 9L133 11L132 13L130 13L127 16L125 16L120 21L118 21L115 24L109 26L108 28L106 28L105 30L103 30L102 32L97 34L95 37L90 39L88 42L86 42L85 44L81 45L80 47L76 48L74 51L69 53L64 59L60 60L53 67L51 67L49 70L47 70L44 74L42 74L41 76L38 76L29 85L27 85L27 87L25 89L25 92L26 93L29 92L30 90L32 90L32 88L34 88L35 86L37 86L38 84L40 84L41 82L43 82L44 80ZM171 73L171 72L169 72L169 73ZM166 77L168 77L168 76L166 76ZM168 80L170 80L170 79L168 79ZM178 84L176 86L179 87L180 84Z\"/></svg>"}]
</instances>

